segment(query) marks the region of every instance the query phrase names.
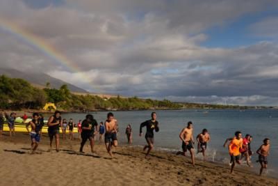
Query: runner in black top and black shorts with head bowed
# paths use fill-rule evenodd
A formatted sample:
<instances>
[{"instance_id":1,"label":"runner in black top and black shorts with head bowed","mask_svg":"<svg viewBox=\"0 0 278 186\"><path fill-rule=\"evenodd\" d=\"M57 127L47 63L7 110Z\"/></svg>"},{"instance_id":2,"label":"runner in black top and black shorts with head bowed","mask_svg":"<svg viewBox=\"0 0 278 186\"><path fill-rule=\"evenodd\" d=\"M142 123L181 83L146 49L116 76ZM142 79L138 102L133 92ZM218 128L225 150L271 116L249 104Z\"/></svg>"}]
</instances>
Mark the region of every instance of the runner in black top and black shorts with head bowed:
<instances>
[{"instance_id":1,"label":"runner in black top and black shorts with head bowed","mask_svg":"<svg viewBox=\"0 0 278 186\"><path fill-rule=\"evenodd\" d=\"M91 146L91 152L95 153L94 151L94 145L95 145L95 128L97 128L97 121L94 119L94 116L92 114L88 114L85 117L85 120L81 124L82 127L82 132L81 132L81 144L80 144L80 149L79 153L84 153L83 152L83 146L85 145L87 139L90 140L90 146Z\"/></svg>"}]
</instances>

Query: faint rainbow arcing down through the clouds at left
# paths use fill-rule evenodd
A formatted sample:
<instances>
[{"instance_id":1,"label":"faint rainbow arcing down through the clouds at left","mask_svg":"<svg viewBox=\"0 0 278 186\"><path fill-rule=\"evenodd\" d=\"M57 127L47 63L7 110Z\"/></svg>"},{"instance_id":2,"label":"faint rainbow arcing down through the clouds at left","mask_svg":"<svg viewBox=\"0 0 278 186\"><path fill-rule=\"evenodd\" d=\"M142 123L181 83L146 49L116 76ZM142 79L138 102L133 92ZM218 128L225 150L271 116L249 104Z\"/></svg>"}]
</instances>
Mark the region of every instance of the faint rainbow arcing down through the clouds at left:
<instances>
[{"instance_id":1,"label":"faint rainbow arcing down through the clouds at left","mask_svg":"<svg viewBox=\"0 0 278 186\"><path fill-rule=\"evenodd\" d=\"M13 24L12 22L8 22L6 20L1 19L1 17L0 30L15 36L15 38L31 46L33 49L42 52L44 56L47 56L49 59L51 59L51 61L54 61L56 64L62 65L70 72L80 72L79 67L77 65L74 65L74 63L70 61L70 59L68 59L67 56L61 54L54 46L49 45L49 43L47 43L44 39L36 36L31 32L26 31L25 29L22 29L21 27L17 26L16 24ZM88 79L88 77L85 77L83 73L81 73L81 76L83 76L83 79ZM90 82L90 79L88 79L88 82ZM90 84L89 86L90 88L92 88L92 84Z\"/></svg>"}]
</instances>

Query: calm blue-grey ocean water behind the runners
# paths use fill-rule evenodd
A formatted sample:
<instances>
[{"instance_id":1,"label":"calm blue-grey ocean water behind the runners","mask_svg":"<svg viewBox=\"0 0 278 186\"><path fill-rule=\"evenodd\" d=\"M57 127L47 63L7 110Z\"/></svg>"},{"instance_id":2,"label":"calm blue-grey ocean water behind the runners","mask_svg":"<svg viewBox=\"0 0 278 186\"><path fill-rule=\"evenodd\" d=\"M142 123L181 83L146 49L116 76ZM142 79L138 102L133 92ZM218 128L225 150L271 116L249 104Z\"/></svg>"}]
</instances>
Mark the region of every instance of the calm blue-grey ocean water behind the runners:
<instances>
[{"instance_id":1,"label":"calm blue-grey ocean water behind the runners","mask_svg":"<svg viewBox=\"0 0 278 186\"><path fill-rule=\"evenodd\" d=\"M126 145L124 134L126 125L131 123L133 130L133 145L145 145L145 137L139 137L140 123L151 118L152 111L114 111L117 118L120 134L118 139L120 145ZM98 122L105 121L107 112L92 113ZM154 134L155 148L176 152L181 150L179 133L187 125L188 121L193 122L194 137L206 128L211 134L211 141L208 143L208 160L213 162L229 163L228 148L223 144L228 137L234 137L234 132L240 130L245 134L251 134L251 144L254 155L252 164L254 171L259 171L259 163L256 163L256 150L263 144L263 139L270 139L270 155L268 157L268 175L278 178L278 110L177 110L177 111L156 111L160 131ZM75 122L85 118L85 114L63 114L63 118L73 118ZM145 128L143 128L145 133ZM197 144L195 144L195 149ZM201 159L202 155L198 154ZM246 166L246 164L243 164Z\"/></svg>"}]
</instances>

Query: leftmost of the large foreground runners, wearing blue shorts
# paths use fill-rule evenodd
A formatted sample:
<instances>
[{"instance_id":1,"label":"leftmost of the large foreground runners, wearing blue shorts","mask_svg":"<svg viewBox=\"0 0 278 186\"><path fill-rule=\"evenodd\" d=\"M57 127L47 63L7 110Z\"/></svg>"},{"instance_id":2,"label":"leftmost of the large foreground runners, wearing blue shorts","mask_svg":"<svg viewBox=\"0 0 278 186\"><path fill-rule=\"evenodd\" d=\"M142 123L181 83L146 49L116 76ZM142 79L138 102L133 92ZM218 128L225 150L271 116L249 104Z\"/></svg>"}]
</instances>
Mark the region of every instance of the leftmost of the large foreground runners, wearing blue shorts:
<instances>
[{"instance_id":1,"label":"leftmost of the large foreground runners, wearing blue shorts","mask_svg":"<svg viewBox=\"0 0 278 186\"><path fill-rule=\"evenodd\" d=\"M29 125L31 125L31 132L29 131L29 128L28 128ZM38 145L40 143L40 136L42 134L42 126L43 126L43 123L40 121L39 114L34 113L33 120L30 121L26 125L26 129L31 137L31 148L32 148L31 154L35 153L35 150L37 150Z\"/></svg>"}]
</instances>

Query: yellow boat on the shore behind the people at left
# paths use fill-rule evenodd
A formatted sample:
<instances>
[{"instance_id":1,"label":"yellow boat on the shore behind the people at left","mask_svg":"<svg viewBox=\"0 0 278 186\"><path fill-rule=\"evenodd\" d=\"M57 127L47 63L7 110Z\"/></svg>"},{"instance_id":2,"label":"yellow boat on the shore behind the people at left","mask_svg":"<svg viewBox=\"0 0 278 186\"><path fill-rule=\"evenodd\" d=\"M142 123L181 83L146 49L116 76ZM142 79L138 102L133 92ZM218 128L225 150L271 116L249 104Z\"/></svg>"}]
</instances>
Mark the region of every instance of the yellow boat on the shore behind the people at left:
<instances>
[{"instance_id":1,"label":"yellow boat on the shore behind the people at left","mask_svg":"<svg viewBox=\"0 0 278 186\"><path fill-rule=\"evenodd\" d=\"M26 119L26 121L24 121L22 118L18 117L15 118L15 132L27 132L26 130L26 125L31 121L31 118ZM42 127L42 133L47 133L47 120L44 120L44 126ZM29 130L31 131L31 126L29 126ZM8 123L5 122L3 123L3 131L4 132L8 132L10 131L10 128L8 127ZM77 127L74 127L73 130L74 133L78 133ZM60 133L62 133L62 129L60 128ZM66 133L69 133L69 130L66 131Z\"/></svg>"}]
</instances>

